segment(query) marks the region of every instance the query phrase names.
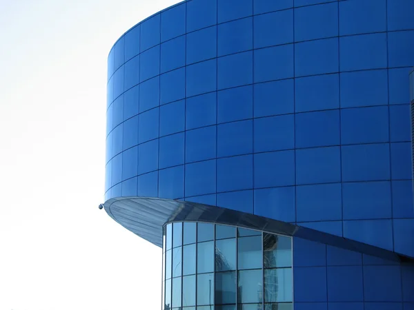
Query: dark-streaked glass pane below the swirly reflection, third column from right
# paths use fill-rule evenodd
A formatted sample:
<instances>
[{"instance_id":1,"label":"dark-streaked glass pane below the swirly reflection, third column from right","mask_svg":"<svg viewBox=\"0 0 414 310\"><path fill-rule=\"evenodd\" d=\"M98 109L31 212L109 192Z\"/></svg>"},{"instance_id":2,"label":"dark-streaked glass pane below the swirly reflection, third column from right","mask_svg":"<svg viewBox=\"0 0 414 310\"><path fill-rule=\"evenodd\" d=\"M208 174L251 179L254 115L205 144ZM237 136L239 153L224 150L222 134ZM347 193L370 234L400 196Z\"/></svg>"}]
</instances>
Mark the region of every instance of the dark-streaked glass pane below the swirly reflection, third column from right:
<instances>
[{"instance_id":1,"label":"dark-streaked glass pane below the swirly reflection, third column from right","mask_svg":"<svg viewBox=\"0 0 414 310\"><path fill-rule=\"evenodd\" d=\"M236 303L236 272L215 274L215 304Z\"/></svg>"}]
</instances>

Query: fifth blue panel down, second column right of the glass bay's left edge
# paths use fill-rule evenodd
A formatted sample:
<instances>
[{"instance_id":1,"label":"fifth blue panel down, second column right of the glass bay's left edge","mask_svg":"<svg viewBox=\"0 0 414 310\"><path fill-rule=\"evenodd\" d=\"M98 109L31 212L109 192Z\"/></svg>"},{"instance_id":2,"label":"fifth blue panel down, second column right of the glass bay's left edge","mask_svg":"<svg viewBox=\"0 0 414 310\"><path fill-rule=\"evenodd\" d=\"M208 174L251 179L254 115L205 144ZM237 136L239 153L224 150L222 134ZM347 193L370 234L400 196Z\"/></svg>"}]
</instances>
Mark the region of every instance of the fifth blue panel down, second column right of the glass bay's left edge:
<instances>
[{"instance_id":1,"label":"fifth blue panel down, second column right of the glass bay's left edge","mask_svg":"<svg viewBox=\"0 0 414 310\"><path fill-rule=\"evenodd\" d=\"M216 156L216 127L203 127L186 132L186 163L205 161Z\"/></svg>"}]
</instances>

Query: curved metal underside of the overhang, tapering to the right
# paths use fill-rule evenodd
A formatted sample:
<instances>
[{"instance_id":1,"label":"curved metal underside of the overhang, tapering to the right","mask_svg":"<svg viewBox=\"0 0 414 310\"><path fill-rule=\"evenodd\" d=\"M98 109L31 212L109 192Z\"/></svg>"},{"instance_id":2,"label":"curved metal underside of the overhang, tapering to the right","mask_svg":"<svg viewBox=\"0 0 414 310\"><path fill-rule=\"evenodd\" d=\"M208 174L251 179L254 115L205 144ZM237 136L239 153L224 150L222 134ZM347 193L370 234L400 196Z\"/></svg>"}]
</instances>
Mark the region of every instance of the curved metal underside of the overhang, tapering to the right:
<instances>
[{"instance_id":1,"label":"curved metal underside of the overhang, tapering to the right","mask_svg":"<svg viewBox=\"0 0 414 310\"><path fill-rule=\"evenodd\" d=\"M200 203L161 198L119 197L107 200L103 206L108 215L117 223L137 236L157 245L157 247L162 247L162 228L166 223L197 221L235 225L248 229L268 231L273 234L295 236L370 256L377 256L386 260L414 262L412 257L355 240L271 218Z\"/></svg>"}]
</instances>

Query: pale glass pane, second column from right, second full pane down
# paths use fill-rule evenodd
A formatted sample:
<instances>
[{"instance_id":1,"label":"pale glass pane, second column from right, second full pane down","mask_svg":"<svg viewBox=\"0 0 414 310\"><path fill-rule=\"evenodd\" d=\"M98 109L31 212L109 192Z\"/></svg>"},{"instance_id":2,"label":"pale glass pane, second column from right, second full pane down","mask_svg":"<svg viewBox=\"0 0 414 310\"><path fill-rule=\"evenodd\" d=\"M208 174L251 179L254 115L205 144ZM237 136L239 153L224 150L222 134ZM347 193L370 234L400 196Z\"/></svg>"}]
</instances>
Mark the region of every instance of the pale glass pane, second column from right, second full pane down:
<instances>
[{"instance_id":1,"label":"pale glass pane, second column from right, second full pane down","mask_svg":"<svg viewBox=\"0 0 414 310\"><path fill-rule=\"evenodd\" d=\"M239 303L262 302L262 269L239 271L237 301Z\"/></svg>"}]
</instances>

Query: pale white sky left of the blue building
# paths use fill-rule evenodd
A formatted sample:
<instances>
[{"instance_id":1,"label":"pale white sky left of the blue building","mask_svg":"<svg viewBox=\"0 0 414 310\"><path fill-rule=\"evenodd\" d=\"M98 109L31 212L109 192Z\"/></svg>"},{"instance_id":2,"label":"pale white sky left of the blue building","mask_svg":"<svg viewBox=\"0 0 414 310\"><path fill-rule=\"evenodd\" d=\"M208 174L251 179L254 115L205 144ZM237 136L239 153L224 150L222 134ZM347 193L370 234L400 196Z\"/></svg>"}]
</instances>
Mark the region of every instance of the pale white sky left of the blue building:
<instances>
[{"instance_id":1,"label":"pale white sky left of the blue building","mask_svg":"<svg viewBox=\"0 0 414 310\"><path fill-rule=\"evenodd\" d=\"M103 203L106 57L176 0L0 0L0 310L159 310L161 249Z\"/></svg>"}]
</instances>

